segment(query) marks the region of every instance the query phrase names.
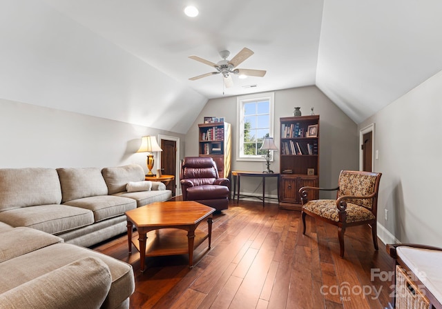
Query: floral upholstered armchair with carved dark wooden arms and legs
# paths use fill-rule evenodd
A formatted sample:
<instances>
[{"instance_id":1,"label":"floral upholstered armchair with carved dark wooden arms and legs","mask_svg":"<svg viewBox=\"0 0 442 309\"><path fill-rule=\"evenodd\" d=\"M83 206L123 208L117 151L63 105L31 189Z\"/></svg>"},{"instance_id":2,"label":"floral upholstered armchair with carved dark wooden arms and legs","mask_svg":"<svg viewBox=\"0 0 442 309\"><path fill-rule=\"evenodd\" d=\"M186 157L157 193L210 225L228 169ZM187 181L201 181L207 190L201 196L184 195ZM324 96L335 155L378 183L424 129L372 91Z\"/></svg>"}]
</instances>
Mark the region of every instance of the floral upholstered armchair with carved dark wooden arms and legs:
<instances>
[{"instance_id":1,"label":"floral upholstered armchair with carved dark wooden arms and legs","mask_svg":"<svg viewBox=\"0 0 442 309\"><path fill-rule=\"evenodd\" d=\"M343 170L340 172L337 188L300 188L299 194L302 199L302 233L305 234L306 215L338 226L340 257L344 257L345 229L349 226L369 224L372 228L374 248L378 250L376 215L381 175L382 173L380 172ZM308 201L308 190L337 190L337 198Z\"/></svg>"}]
</instances>

